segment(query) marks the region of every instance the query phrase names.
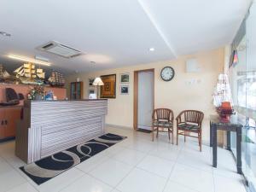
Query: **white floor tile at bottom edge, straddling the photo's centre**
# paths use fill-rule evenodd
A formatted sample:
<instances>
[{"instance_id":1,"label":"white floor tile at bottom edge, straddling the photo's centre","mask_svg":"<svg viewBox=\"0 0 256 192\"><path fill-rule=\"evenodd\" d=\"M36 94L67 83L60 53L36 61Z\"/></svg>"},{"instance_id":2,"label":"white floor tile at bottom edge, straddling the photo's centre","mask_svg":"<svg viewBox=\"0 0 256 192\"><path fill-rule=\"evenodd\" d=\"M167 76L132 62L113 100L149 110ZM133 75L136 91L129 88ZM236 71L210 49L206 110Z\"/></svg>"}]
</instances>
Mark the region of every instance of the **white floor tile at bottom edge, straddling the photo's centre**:
<instances>
[{"instance_id":1,"label":"white floor tile at bottom edge, straddling the photo's centre","mask_svg":"<svg viewBox=\"0 0 256 192\"><path fill-rule=\"evenodd\" d=\"M122 192L161 192L164 189L165 183L165 178L135 168L119 183L117 189Z\"/></svg>"}]
</instances>

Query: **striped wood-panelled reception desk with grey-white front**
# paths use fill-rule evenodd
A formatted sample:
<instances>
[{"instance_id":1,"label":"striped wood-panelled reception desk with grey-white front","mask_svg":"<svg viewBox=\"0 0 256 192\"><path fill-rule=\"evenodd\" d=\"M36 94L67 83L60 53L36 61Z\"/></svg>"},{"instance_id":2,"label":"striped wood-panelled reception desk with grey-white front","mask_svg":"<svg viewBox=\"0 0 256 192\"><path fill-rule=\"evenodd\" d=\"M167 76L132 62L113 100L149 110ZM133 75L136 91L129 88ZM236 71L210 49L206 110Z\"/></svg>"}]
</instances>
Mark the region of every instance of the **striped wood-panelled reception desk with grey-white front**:
<instances>
[{"instance_id":1,"label":"striped wood-panelled reception desk with grey-white front","mask_svg":"<svg viewBox=\"0 0 256 192\"><path fill-rule=\"evenodd\" d=\"M102 135L107 100L26 101L15 154L26 163Z\"/></svg>"}]
</instances>

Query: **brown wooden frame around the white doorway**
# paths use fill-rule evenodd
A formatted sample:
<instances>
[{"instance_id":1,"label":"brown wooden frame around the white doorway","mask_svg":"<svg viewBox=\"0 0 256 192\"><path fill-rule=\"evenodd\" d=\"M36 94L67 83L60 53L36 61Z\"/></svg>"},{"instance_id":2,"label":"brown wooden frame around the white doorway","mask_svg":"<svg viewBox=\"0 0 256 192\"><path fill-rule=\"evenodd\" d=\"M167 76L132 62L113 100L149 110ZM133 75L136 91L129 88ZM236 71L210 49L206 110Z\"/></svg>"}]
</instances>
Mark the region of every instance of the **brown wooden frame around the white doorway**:
<instances>
[{"instance_id":1,"label":"brown wooden frame around the white doorway","mask_svg":"<svg viewBox=\"0 0 256 192\"><path fill-rule=\"evenodd\" d=\"M134 82L133 82L133 129L137 130L137 109L138 109L138 74L139 73L153 73L153 109L154 109L154 68L143 69L134 71Z\"/></svg>"}]
</instances>

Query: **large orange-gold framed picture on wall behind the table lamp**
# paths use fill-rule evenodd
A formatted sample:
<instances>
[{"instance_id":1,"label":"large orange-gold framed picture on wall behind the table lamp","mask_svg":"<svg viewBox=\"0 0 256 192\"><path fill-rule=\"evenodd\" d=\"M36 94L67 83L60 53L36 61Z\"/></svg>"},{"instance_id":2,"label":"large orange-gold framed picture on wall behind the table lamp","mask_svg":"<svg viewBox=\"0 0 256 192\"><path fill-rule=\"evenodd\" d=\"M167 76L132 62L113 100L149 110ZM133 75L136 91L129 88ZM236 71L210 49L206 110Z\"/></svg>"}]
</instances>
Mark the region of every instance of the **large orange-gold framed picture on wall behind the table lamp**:
<instances>
[{"instance_id":1,"label":"large orange-gold framed picture on wall behind the table lamp","mask_svg":"<svg viewBox=\"0 0 256 192\"><path fill-rule=\"evenodd\" d=\"M102 75L101 98L115 98L116 95L116 74Z\"/></svg>"}]
</instances>

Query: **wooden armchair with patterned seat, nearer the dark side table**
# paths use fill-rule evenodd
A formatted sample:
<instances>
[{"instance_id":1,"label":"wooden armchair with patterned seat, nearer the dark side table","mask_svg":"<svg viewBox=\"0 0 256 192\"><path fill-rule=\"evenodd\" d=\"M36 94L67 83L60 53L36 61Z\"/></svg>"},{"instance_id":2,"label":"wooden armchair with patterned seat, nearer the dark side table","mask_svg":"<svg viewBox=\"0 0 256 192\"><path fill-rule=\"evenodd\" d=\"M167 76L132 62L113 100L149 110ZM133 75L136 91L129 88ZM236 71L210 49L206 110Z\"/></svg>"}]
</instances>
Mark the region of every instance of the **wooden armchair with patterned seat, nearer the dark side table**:
<instances>
[{"instance_id":1,"label":"wooden armchair with patterned seat, nearer the dark side table","mask_svg":"<svg viewBox=\"0 0 256 192\"><path fill-rule=\"evenodd\" d=\"M198 143L201 151L201 122L204 119L204 113L195 110L185 110L177 115L177 141L178 135L184 136L184 142L186 137L198 138ZM197 133L197 137L191 135L191 133Z\"/></svg>"}]
</instances>

